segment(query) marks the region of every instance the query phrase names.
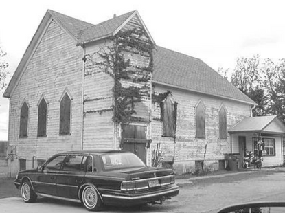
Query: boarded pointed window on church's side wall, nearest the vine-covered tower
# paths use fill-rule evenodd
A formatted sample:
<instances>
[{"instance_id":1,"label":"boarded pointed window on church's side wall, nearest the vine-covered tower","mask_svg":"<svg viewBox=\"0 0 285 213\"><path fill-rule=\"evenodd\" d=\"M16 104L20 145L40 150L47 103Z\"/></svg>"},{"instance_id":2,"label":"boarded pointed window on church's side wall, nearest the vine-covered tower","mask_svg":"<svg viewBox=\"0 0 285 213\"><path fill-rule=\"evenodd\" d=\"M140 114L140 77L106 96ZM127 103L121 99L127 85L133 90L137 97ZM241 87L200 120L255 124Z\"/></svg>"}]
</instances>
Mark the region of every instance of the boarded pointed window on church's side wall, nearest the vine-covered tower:
<instances>
[{"instance_id":1,"label":"boarded pointed window on church's side wall, nearest the vine-covered tower","mask_svg":"<svg viewBox=\"0 0 285 213\"><path fill-rule=\"evenodd\" d=\"M175 136L174 101L169 96L163 102L163 133L164 137Z\"/></svg>"}]
</instances>

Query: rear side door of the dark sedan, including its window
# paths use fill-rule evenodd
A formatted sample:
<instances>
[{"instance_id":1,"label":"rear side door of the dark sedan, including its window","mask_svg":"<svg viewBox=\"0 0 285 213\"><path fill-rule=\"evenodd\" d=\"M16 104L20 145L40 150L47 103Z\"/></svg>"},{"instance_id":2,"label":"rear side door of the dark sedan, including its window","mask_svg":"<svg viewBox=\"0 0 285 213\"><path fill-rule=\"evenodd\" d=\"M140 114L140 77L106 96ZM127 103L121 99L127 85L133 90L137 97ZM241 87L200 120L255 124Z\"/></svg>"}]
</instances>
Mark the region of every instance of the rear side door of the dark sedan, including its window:
<instances>
[{"instance_id":1,"label":"rear side door of the dark sedan, including its window","mask_svg":"<svg viewBox=\"0 0 285 213\"><path fill-rule=\"evenodd\" d=\"M86 172L86 160L87 155L67 155L56 179L59 197L78 199L78 189Z\"/></svg>"}]
</instances>

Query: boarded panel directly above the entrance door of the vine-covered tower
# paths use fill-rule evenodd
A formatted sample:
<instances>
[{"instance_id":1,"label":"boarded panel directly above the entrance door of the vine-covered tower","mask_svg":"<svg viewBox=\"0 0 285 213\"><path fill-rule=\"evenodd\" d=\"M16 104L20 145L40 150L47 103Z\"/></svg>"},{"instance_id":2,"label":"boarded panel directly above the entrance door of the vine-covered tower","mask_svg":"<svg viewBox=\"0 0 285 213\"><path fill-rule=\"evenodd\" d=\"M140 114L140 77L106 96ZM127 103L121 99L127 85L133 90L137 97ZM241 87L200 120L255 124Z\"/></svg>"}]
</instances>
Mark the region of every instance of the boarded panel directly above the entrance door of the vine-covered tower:
<instances>
[{"instance_id":1,"label":"boarded panel directly above the entrance door of the vine-covered tower","mask_svg":"<svg viewBox=\"0 0 285 213\"><path fill-rule=\"evenodd\" d=\"M146 126L122 125L122 138L146 139Z\"/></svg>"}]
</instances>

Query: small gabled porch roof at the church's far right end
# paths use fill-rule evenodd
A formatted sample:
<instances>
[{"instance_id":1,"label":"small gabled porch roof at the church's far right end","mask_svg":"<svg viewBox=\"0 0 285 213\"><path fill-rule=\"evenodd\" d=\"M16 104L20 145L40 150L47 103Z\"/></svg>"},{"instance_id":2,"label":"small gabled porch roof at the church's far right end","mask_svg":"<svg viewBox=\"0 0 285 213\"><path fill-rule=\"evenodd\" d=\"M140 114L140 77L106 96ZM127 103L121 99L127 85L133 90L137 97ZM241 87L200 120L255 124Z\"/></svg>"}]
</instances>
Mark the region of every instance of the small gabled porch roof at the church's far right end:
<instances>
[{"instance_id":1,"label":"small gabled porch roof at the church's far right end","mask_svg":"<svg viewBox=\"0 0 285 213\"><path fill-rule=\"evenodd\" d=\"M285 125L277 115L246 117L234 125L229 133L262 133L285 135Z\"/></svg>"}]
</instances>

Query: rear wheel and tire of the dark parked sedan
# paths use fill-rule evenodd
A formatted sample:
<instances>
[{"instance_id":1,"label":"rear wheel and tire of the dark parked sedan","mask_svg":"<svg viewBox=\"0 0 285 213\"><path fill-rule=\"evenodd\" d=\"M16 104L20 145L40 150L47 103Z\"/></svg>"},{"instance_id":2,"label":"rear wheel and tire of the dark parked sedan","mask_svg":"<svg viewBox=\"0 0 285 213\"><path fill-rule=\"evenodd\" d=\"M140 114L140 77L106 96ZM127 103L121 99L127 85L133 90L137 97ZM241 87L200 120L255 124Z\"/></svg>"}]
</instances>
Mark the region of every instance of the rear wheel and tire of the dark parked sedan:
<instances>
[{"instance_id":1,"label":"rear wheel and tire of the dark parked sedan","mask_svg":"<svg viewBox=\"0 0 285 213\"><path fill-rule=\"evenodd\" d=\"M98 211L102 205L100 196L94 186L85 186L82 191L82 203L89 211Z\"/></svg>"}]
</instances>

